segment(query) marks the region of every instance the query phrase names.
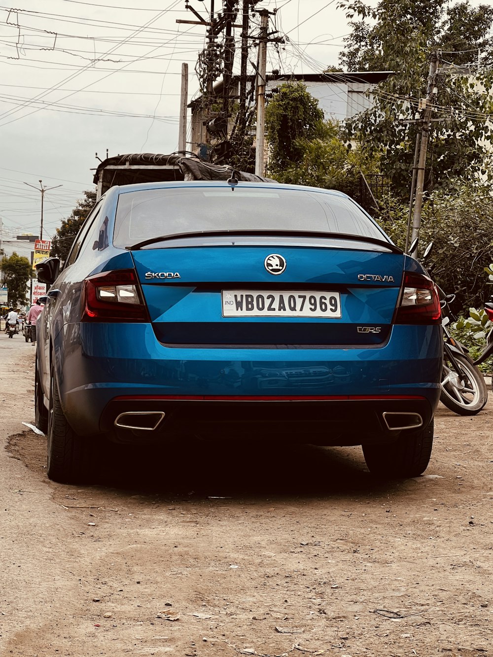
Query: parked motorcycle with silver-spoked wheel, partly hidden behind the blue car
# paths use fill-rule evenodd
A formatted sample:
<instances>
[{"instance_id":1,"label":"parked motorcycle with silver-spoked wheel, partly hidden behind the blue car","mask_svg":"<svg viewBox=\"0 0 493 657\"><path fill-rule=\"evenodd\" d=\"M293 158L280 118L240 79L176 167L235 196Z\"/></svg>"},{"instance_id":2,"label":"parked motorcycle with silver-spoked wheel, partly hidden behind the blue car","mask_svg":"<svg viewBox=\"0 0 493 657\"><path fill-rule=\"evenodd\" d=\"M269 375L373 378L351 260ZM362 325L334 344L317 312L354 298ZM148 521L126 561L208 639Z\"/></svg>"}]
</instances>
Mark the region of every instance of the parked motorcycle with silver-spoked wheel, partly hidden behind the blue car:
<instances>
[{"instance_id":1,"label":"parked motorcycle with silver-spoked wheel, partly hidden behind the blue car","mask_svg":"<svg viewBox=\"0 0 493 657\"><path fill-rule=\"evenodd\" d=\"M438 289L440 290L440 288ZM440 290L440 296L444 332L440 401L458 415L477 415L488 401L488 388L486 388L481 370L477 367L482 360L473 361L467 347L453 338L447 328L451 318L455 319L450 312L449 304L454 301L456 295L446 295ZM493 338L491 351L493 351Z\"/></svg>"}]
</instances>

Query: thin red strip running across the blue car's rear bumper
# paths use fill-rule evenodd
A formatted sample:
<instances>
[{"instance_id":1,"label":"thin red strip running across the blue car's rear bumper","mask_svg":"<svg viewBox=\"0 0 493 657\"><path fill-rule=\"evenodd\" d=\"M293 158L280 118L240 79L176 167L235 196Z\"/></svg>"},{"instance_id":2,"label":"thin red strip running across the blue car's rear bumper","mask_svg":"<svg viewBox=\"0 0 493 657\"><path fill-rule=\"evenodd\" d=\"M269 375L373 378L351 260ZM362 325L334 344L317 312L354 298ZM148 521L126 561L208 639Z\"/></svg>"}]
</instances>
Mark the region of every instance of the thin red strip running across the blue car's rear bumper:
<instances>
[{"instance_id":1,"label":"thin red strip running across the blue car's rear bumper","mask_svg":"<svg viewBox=\"0 0 493 657\"><path fill-rule=\"evenodd\" d=\"M123 395L114 397L113 401L128 401L141 399L143 401L388 401L388 399L424 399L420 395L317 395L296 397L271 396L215 396L215 395Z\"/></svg>"}]
</instances>

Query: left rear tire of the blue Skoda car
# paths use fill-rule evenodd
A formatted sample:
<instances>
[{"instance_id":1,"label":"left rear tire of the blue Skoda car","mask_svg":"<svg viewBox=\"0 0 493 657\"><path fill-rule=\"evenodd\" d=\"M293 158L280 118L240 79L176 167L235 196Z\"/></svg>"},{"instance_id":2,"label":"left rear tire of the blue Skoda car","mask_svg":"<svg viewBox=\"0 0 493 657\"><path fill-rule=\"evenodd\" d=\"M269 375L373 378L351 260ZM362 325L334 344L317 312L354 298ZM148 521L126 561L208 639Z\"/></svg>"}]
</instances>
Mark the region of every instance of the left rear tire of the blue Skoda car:
<instances>
[{"instance_id":1,"label":"left rear tire of the blue Skoda car","mask_svg":"<svg viewBox=\"0 0 493 657\"><path fill-rule=\"evenodd\" d=\"M48 477L60 484L82 484L91 478L92 440L82 438L68 424L60 404L55 373L51 373L48 415Z\"/></svg>"}]
</instances>

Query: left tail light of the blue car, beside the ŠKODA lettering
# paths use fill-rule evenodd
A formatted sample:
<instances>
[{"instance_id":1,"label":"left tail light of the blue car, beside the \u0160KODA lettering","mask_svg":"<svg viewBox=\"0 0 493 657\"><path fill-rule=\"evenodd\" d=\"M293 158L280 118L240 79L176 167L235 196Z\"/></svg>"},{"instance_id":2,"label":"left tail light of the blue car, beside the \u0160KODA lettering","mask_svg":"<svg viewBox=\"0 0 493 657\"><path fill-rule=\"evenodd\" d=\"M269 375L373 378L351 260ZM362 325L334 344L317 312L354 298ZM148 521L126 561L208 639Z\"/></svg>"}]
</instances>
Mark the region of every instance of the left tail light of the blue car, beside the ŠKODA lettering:
<instances>
[{"instance_id":1,"label":"left tail light of the blue car, beside the \u0160KODA lettering","mask_svg":"<svg viewBox=\"0 0 493 657\"><path fill-rule=\"evenodd\" d=\"M149 321L133 269L105 271L85 279L81 321Z\"/></svg>"}]
</instances>

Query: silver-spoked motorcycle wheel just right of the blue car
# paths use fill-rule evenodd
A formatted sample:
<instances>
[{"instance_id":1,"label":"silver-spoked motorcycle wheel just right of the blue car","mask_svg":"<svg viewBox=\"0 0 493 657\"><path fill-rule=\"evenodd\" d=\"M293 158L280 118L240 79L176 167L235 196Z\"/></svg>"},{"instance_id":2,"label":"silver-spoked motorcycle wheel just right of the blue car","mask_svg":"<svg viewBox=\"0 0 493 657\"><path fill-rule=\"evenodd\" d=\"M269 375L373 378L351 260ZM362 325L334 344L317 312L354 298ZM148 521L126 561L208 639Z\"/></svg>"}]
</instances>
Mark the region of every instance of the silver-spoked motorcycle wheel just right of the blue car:
<instances>
[{"instance_id":1,"label":"silver-spoked motorcycle wheel just right of the blue car","mask_svg":"<svg viewBox=\"0 0 493 657\"><path fill-rule=\"evenodd\" d=\"M466 356L454 353L454 359L460 371L456 372L448 359L444 361L440 401L458 415L477 415L488 401L484 376Z\"/></svg>"}]
</instances>

